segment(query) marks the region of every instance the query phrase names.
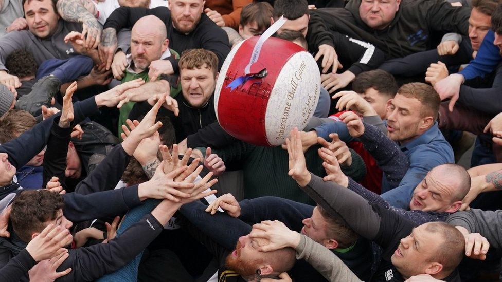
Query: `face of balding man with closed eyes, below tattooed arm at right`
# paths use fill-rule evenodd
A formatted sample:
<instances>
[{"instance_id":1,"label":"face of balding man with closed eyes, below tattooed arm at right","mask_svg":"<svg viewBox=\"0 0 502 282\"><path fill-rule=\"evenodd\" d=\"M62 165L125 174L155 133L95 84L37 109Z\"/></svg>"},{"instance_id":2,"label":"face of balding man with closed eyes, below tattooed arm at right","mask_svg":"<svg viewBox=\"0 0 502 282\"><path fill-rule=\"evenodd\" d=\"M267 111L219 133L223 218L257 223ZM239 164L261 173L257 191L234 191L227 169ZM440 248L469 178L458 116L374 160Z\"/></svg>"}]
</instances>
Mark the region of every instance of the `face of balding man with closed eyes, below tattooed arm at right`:
<instances>
[{"instance_id":1,"label":"face of balding man with closed eyes, below tattooed arm at right","mask_svg":"<svg viewBox=\"0 0 502 282\"><path fill-rule=\"evenodd\" d=\"M432 170L418 183L409 202L410 210L449 211L458 183L442 170ZM455 212L455 211L449 211Z\"/></svg>"}]
</instances>

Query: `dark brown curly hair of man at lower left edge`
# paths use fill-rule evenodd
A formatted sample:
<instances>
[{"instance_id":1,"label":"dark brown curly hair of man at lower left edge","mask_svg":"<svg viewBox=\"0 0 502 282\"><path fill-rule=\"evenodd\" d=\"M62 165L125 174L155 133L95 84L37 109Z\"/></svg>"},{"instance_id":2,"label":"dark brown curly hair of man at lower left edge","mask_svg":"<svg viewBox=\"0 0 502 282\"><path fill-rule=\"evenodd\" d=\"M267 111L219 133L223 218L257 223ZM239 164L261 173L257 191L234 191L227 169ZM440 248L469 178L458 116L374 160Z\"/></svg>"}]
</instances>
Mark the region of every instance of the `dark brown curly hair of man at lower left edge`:
<instances>
[{"instance_id":1,"label":"dark brown curly hair of man at lower left edge","mask_svg":"<svg viewBox=\"0 0 502 282\"><path fill-rule=\"evenodd\" d=\"M14 232L23 241L31 241L34 232L42 232L45 222L55 220L63 209L63 197L48 190L25 190L12 202L10 220Z\"/></svg>"}]
</instances>

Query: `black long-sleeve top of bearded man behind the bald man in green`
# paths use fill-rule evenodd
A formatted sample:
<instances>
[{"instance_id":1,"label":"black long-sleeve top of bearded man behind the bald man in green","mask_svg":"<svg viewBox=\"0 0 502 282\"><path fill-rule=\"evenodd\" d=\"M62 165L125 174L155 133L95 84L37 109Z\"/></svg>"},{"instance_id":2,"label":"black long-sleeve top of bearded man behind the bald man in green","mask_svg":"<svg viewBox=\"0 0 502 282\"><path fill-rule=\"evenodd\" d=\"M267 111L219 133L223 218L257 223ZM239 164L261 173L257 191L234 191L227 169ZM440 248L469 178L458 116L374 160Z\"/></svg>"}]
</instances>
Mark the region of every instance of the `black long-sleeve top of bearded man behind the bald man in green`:
<instances>
[{"instance_id":1,"label":"black long-sleeve top of bearded man behind the bald man in green","mask_svg":"<svg viewBox=\"0 0 502 282\"><path fill-rule=\"evenodd\" d=\"M194 48L203 48L212 51L218 57L218 69L221 68L230 52L228 36L206 14L201 15L200 22L192 32L185 34L174 28L171 21L171 12L167 7L157 7L154 9L120 7L108 17L103 28L111 27L117 32L121 28L132 28L141 17L146 15L155 15L166 24L169 48L180 54L185 50ZM178 67L179 59L176 60L173 58L169 61L173 65L174 73L180 73L180 68Z\"/></svg>"}]
</instances>

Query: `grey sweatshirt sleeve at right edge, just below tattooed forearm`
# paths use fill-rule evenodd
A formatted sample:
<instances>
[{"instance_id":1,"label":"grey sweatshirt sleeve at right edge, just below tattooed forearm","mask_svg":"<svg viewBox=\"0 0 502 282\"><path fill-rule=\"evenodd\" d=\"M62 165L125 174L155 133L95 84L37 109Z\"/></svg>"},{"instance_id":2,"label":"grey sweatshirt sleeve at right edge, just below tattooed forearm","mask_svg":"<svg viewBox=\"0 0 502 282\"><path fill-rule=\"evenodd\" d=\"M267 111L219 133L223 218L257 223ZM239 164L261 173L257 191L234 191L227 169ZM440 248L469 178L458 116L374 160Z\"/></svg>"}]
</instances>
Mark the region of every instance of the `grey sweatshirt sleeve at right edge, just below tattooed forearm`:
<instances>
[{"instance_id":1,"label":"grey sweatshirt sleeve at right edge, just below tattooed forearm","mask_svg":"<svg viewBox=\"0 0 502 282\"><path fill-rule=\"evenodd\" d=\"M456 212L446 218L446 222L464 227L469 233L479 233L487 238L490 248L500 249L502 246L502 210Z\"/></svg>"}]
</instances>

